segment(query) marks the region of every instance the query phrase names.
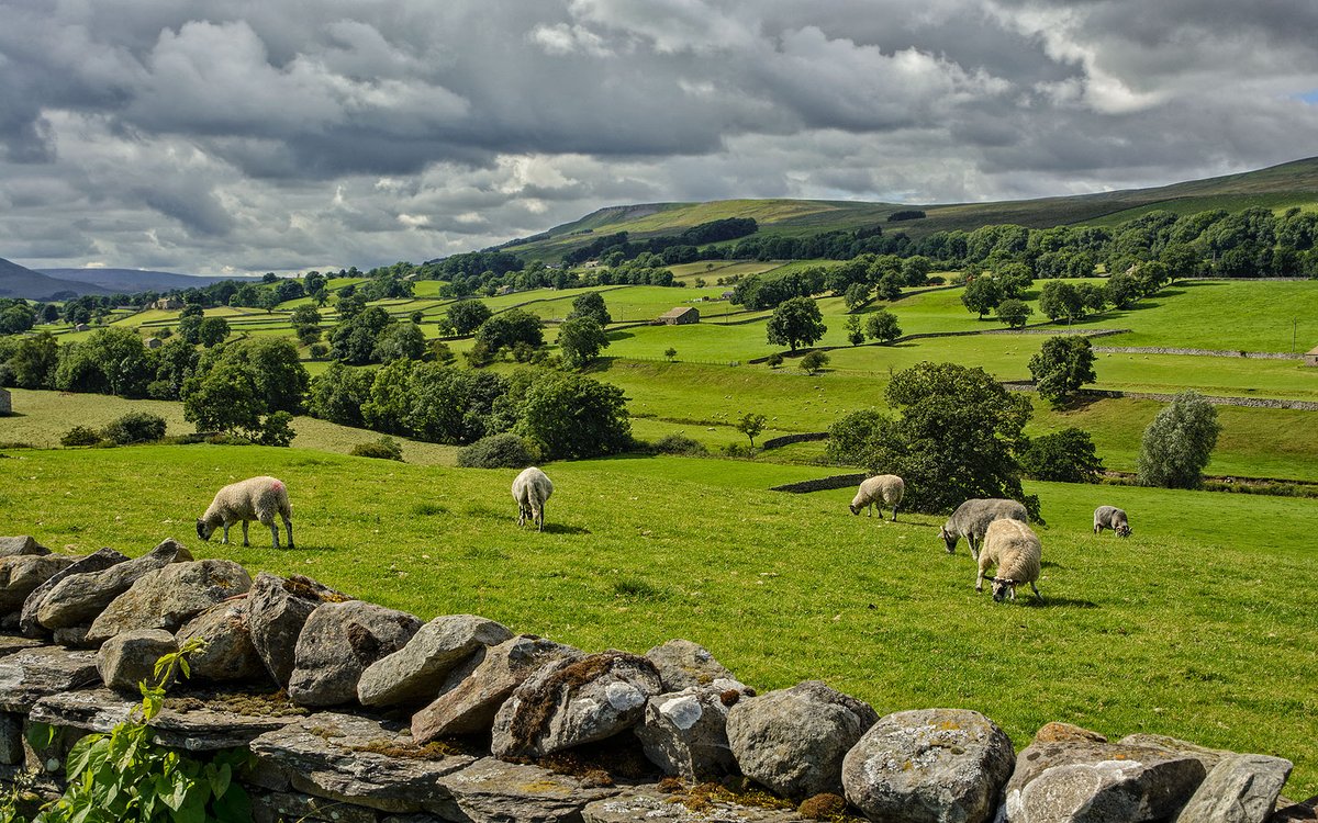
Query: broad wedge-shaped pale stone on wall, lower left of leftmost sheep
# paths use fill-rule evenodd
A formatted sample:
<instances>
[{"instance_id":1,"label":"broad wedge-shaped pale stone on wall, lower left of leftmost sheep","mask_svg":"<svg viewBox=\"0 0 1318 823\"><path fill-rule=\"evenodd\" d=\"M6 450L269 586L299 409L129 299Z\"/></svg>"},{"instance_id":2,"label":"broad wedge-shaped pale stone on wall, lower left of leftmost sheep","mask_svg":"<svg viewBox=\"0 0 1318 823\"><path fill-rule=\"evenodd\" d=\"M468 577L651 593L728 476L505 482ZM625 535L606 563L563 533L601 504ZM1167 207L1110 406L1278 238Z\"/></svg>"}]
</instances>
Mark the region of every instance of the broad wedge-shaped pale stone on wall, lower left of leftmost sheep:
<instances>
[{"instance_id":1,"label":"broad wedge-shaped pale stone on wall, lower left of leftmost sheep","mask_svg":"<svg viewBox=\"0 0 1318 823\"><path fill-rule=\"evenodd\" d=\"M137 578L87 629L87 643L104 643L120 632L161 628L175 632L211 606L246 594L252 578L232 560L169 564Z\"/></svg>"}]
</instances>

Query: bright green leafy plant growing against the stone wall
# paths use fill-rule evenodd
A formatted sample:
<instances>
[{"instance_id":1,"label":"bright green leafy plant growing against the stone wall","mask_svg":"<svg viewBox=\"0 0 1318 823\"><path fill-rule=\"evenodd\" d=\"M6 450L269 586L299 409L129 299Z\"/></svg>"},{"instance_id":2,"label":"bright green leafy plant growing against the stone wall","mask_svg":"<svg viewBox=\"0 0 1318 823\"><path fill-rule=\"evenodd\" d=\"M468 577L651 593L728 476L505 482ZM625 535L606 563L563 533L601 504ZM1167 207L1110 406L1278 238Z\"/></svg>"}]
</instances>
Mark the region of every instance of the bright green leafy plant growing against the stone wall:
<instances>
[{"instance_id":1,"label":"bright green leafy plant growing against the stone wall","mask_svg":"<svg viewBox=\"0 0 1318 823\"><path fill-rule=\"evenodd\" d=\"M233 782L235 769L250 757L246 749L200 761L152 741L149 723L165 704L166 687L177 673L190 674L187 658L202 648L204 641L194 637L178 652L161 656L153 685L140 683L141 706L108 735L91 733L74 744L65 766L69 787L33 823L252 819L252 801Z\"/></svg>"}]
</instances>

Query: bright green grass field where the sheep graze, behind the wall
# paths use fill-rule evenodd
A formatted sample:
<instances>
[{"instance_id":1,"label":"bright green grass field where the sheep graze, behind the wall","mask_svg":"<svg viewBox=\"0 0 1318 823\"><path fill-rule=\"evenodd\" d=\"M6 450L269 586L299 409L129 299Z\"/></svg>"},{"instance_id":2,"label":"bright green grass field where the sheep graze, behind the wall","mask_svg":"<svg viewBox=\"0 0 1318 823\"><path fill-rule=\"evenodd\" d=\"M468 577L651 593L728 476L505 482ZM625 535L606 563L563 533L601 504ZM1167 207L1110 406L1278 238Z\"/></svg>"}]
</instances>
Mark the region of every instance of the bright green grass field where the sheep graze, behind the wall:
<instances>
[{"instance_id":1,"label":"bright green grass field where the sheep graze, behind the wall","mask_svg":"<svg viewBox=\"0 0 1318 823\"><path fill-rule=\"evenodd\" d=\"M422 618L481 614L588 650L687 637L760 690L820 678L880 714L975 708L1017 747L1068 720L1280 755L1296 762L1288 794L1318 790L1315 500L1031 485L1050 524L1045 600L995 604L974 593L966 549L942 550L936 518L853 518L849 489L766 491L809 467L554 464L538 535L514 523L513 471L235 446L0 462L0 519L57 550L136 556L175 537ZM289 483L298 549L199 543L192 519L215 489L260 473ZM1097 503L1131 512L1135 535L1090 535Z\"/></svg>"}]
</instances>

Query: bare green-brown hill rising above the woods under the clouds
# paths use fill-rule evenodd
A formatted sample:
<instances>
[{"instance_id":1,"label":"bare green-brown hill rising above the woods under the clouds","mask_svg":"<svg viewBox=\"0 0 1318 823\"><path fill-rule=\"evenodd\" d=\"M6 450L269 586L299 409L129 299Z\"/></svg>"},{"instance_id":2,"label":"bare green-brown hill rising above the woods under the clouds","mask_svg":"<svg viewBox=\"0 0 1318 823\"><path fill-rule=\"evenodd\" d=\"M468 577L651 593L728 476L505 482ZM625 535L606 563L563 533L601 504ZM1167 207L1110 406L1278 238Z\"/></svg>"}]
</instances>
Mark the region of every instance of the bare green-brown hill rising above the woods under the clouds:
<instances>
[{"instance_id":1,"label":"bare green-brown hill rising above the woods under the clouds","mask_svg":"<svg viewBox=\"0 0 1318 823\"><path fill-rule=\"evenodd\" d=\"M912 238L933 232L974 230L983 225L1012 223L1029 228L1054 225L1116 225L1139 215L1166 209L1186 215L1222 208L1289 208L1318 204L1318 158L1307 158L1203 180L1157 188L1131 188L1066 198L916 205L925 213L915 220L890 223L909 203L862 203L853 200L714 200L710 203L648 203L612 205L542 234L501 246L527 259L558 259L588 245L600 234L627 232L634 240L680 233L683 229L725 217L754 217L760 234L807 236L838 229L880 225L886 233L904 232Z\"/></svg>"}]
</instances>

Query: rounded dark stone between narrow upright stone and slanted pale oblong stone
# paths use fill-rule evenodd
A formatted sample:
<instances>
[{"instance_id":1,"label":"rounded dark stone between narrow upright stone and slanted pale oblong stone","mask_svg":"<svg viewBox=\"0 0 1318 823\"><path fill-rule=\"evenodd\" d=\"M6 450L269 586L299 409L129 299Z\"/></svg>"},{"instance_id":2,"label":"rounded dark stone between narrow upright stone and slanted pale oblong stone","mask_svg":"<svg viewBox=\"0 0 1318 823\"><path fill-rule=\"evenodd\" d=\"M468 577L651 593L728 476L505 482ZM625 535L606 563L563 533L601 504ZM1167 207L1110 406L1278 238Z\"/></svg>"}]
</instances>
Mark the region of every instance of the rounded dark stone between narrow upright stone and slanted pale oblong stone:
<instances>
[{"instance_id":1,"label":"rounded dark stone between narrow upright stone and slanted pale oblong stone","mask_svg":"<svg viewBox=\"0 0 1318 823\"><path fill-rule=\"evenodd\" d=\"M366 666L403 648L419 628L413 615L374 603L320 606L298 636L289 698L299 706L356 701Z\"/></svg>"}]
</instances>

